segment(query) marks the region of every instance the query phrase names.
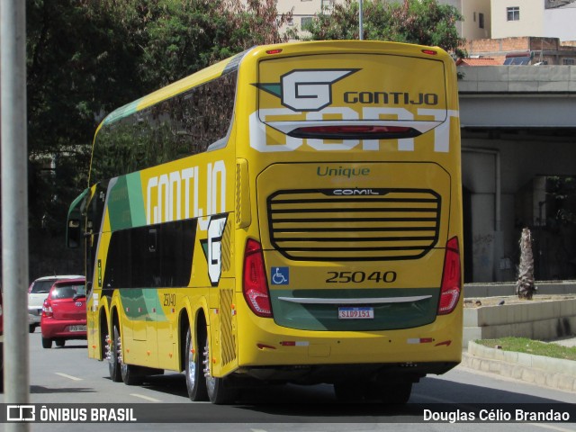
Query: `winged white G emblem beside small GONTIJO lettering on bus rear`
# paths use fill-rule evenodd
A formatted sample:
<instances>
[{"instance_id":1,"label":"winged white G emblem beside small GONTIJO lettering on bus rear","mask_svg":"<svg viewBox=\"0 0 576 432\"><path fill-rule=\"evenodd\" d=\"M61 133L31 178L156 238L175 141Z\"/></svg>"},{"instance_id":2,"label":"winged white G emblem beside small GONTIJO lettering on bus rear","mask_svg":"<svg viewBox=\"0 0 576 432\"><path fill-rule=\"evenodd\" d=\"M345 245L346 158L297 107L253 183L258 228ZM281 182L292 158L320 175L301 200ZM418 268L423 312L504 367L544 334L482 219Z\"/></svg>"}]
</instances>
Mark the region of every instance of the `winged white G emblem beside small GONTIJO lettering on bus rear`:
<instances>
[{"instance_id":1,"label":"winged white G emblem beside small GONTIJO lettering on bus rear","mask_svg":"<svg viewBox=\"0 0 576 432\"><path fill-rule=\"evenodd\" d=\"M332 85L360 69L293 70L280 77L280 83L256 86L280 98L293 111L320 111L332 103Z\"/></svg>"}]
</instances>

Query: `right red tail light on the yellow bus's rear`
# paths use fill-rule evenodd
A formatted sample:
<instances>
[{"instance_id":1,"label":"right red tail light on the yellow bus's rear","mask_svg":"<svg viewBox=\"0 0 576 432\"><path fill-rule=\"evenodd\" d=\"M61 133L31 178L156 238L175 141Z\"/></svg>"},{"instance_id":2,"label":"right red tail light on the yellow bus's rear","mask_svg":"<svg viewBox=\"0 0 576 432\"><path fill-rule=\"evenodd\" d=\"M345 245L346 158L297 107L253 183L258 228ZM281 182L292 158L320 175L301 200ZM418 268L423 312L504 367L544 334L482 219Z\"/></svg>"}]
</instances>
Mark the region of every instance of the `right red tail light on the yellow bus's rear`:
<instances>
[{"instance_id":1,"label":"right red tail light on the yellow bus's rear","mask_svg":"<svg viewBox=\"0 0 576 432\"><path fill-rule=\"evenodd\" d=\"M446 315L454 311L462 287L460 267L460 247L458 238L453 237L446 243L446 254L444 257L444 272L442 275L442 290L440 292L440 302L438 303L438 315Z\"/></svg>"}]
</instances>

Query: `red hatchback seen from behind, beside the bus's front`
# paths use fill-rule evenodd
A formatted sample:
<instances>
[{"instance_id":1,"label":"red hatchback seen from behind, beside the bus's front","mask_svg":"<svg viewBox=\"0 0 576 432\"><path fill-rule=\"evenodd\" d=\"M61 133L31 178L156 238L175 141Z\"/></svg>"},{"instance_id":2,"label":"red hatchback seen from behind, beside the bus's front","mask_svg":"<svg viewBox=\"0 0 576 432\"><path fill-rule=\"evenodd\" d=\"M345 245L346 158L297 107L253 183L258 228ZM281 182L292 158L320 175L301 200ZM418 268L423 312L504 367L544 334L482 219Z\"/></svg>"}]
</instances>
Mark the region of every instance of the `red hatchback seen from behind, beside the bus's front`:
<instances>
[{"instance_id":1,"label":"red hatchback seen from behind, beside the bus's front","mask_svg":"<svg viewBox=\"0 0 576 432\"><path fill-rule=\"evenodd\" d=\"M55 282L42 306L42 347L64 347L67 339L86 338L85 279Z\"/></svg>"}]
</instances>

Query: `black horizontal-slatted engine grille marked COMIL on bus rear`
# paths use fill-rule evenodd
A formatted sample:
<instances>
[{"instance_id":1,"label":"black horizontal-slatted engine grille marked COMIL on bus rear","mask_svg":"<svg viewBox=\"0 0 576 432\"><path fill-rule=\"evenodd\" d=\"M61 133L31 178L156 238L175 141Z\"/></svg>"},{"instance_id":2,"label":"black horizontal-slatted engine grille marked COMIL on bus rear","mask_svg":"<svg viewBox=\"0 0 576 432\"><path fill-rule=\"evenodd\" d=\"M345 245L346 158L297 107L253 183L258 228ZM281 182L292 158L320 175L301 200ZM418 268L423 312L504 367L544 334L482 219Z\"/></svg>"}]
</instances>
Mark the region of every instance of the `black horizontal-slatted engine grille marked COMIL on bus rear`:
<instances>
[{"instance_id":1,"label":"black horizontal-slatted engine grille marked COMIL on bus rear","mask_svg":"<svg viewBox=\"0 0 576 432\"><path fill-rule=\"evenodd\" d=\"M286 190L266 203L270 241L291 259L416 259L438 240L441 196L430 189Z\"/></svg>"}]
</instances>

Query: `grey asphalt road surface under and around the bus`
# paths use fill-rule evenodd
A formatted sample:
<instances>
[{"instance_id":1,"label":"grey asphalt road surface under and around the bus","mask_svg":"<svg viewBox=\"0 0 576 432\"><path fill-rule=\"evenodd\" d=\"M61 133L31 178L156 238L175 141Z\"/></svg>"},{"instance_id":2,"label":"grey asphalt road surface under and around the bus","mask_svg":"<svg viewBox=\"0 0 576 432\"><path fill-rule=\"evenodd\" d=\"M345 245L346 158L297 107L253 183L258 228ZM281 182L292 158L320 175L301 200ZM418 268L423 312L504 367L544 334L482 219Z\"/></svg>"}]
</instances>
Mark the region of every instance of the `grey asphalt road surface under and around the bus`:
<instances>
[{"instance_id":1,"label":"grey asphalt road surface under and around the bus","mask_svg":"<svg viewBox=\"0 0 576 432\"><path fill-rule=\"evenodd\" d=\"M450 424L423 421L423 411L430 408L434 412L443 412L458 407L478 408L480 403L480 408L485 407L498 414L502 404L526 407L529 406L527 404L576 403L576 396L569 392L503 380L461 366L448 374L430 376L415 384L410 403L403 407L386 407L376 403L340 404L330 385L285 385L251 390L243 394L238 404L215 406L189 401L183 374L157 375L150 377L141 386L112 383L107 365L88 359L85 341L68 341L66 347L44 349L40 343L40 329L29 335L29 338L31 403L47 406L86 403L94 407L104 403L116 404L118 407L139 404L137 409L140 419L142 415L146 419L155 419L154 423L113 426L121 430L381 431L393 425L393 430L410 431L456 430L456 427L459 431L476 431L497 426L523 432L543 432L543 429L551 428L559 432L576 432L576 422L551 425L510 421L495 425L485 422ZM4 402L4 395L0 395L0 402ZM111 426L31 424L31 430L62 432L101 430Z\"/></svg>"}]
</instances>

